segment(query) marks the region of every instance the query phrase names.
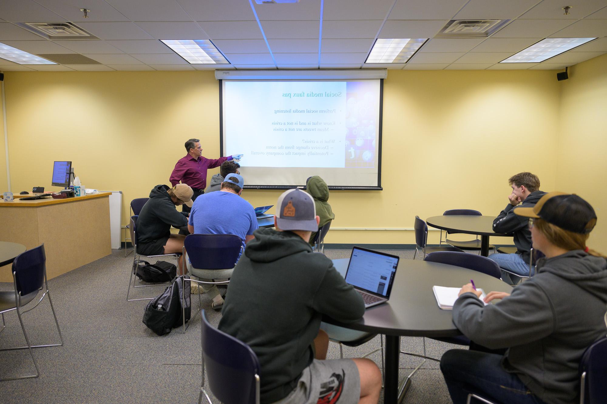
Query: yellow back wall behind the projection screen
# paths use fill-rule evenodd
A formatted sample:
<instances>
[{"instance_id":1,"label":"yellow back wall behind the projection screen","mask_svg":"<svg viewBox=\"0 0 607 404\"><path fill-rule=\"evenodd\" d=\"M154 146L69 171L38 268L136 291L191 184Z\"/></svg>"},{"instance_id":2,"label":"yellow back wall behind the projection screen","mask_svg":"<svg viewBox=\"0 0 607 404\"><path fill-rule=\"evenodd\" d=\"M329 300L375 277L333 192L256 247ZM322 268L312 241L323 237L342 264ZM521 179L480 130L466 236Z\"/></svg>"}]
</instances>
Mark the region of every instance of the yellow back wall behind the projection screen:
<instances>
[{"instance_id":1,"label":"yellow back wall behind the projection screen","mask_svg":"<svg viewBox=\"0 0 607 404\"><path fill-rule=\"evenodd\" d=\"M126 223L127 201L168 183L185 140L200 138L206 157L219 155L212 72L7 72L5 83L13 191L50 187L52 161L72 160L86 187L123 190ZM507 178L524 170L554 189L559 92L552 71L390 70L384 190L333 192L332 227L411 228L415 215L455 208L497 215ZM279 194L243 196L260 206ZM326 241L413 243L413 234L331 231Z\"/></svg>"}]
</instances>

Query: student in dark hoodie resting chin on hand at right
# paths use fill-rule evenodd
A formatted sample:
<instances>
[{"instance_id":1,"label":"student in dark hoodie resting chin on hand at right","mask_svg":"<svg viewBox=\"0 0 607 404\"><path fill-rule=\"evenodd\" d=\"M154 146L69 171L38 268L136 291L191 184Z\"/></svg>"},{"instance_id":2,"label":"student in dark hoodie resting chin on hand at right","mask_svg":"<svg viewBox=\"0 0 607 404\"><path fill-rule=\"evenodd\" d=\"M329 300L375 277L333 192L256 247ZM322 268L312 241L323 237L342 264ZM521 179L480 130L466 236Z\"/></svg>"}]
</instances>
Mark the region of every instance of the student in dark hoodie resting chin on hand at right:
<instances>
[{"instance_id":1,"label":"student in dark hoodie resting chin on hand at right","mask_svg":"<svg viewBox=\"0 0 607 404\"><path fill-rule=\"evenodd\" d=\"M493 231L496 233L514 233L514 245L517 252L514 254L490 254L489 258L500 268L529 276L529 260L531 255L531 232L527 227L526 218L514 214L514 207L521 204L523 207L533 207L546 192L540 189L540 178L530 172L521 172L508 180L512 187L512 194L508 195L508 204L493 221ZM501 278L509 284L516 284L520 280L516 275L501 271Z\"/></svg>"}]
</instances>

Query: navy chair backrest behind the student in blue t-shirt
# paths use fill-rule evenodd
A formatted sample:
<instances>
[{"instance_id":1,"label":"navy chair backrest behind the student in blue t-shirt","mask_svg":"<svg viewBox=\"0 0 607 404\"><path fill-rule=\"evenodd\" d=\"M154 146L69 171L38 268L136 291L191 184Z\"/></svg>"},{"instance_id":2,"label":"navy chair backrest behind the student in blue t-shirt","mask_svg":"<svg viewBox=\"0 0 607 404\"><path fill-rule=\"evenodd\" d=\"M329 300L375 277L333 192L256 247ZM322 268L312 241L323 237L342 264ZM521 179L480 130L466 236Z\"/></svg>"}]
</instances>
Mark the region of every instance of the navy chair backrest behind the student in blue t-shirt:
<instances>
[{"instance_id":1,"label":"navy chair backrest behind the student in blue t-shirt","mask_svg":"<svg viewBox=\"0 0 607 404\"><path fill-rule=\"evenodd\" d=\"M234 268L242 240L234 234L190 234L183 243L196 269Z\"/></svg>"}]
</instances>

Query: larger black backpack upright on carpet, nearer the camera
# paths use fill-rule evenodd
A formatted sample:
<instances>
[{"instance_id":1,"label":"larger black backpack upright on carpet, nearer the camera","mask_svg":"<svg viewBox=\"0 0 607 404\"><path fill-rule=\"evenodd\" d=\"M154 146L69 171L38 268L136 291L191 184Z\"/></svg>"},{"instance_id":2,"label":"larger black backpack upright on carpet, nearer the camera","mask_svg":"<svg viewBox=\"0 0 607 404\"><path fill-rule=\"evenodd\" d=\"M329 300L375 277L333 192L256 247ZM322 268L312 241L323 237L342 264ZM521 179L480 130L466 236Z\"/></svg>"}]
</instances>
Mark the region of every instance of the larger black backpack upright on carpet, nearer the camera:
<instances>
[{"instance_id":1,"label":"larger black backpack upright on carpet, nearer the camera","mask_svg":"<svg viewBox=\"0 0 607 404\"><path fill-rule=\"evenodd\" d=\"M183 281L188 275L176 278L163 294L150 300L143 313L143 323L157 335L171 332L171 329L183 324L181 316L181 298L185 297L185 320L190 319L190 283Z\"/></svg>"}]
</instances>

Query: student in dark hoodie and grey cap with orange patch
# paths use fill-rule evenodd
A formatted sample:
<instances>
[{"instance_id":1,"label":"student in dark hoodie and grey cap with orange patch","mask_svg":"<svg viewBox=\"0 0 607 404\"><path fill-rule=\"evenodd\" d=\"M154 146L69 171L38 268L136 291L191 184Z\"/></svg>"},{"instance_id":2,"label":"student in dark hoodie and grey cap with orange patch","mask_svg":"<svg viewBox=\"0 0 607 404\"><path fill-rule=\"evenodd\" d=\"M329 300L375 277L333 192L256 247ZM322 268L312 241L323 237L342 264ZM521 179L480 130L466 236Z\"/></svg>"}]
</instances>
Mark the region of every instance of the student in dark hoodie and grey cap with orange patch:
<instances>
[{"instance_id":1,"label":"student in dark hoodie and grey cap with orange patch","mask_svg":"<svg viewBox=\"0 0 607 404\"><path fill-rule=\"evenodd\" d=\"M319 221L313 198L291 189L276 208L276 230L257 230L234 269L219 329L256 353L264 404L377 403L382 380L375 363L325 360L322 315L353 322L365 306L331 260L308 244Z\"/></svg>"}]
</instances>

